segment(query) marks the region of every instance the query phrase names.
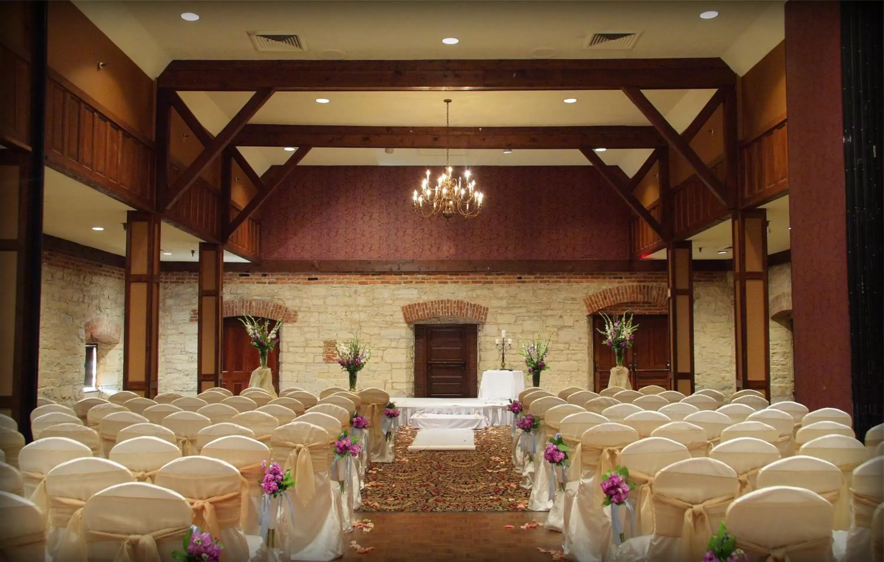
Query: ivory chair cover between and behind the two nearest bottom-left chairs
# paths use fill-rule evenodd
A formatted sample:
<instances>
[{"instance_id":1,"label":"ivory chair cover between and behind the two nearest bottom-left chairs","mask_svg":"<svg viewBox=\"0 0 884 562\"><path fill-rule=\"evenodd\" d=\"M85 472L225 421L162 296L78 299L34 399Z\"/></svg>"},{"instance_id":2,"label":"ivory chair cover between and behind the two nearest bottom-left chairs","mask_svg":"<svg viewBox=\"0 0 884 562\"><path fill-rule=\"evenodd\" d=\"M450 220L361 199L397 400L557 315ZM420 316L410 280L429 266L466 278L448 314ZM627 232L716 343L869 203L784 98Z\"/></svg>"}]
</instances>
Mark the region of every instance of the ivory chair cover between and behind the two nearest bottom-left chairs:
<instances>
[{"instance_id":1,"label":"ivory chair cover between and behind the two nearest bottom-left chairs","mask_svg":"<svg viewBox=\"0 0 884 562\"><path fill-rule=\"evenodd\" d=\"M68 536L67 526L88 498L109 486L134 482L129 470L107 459L86 457L52 468L46 475L45 491L34 493L34 503L47 518L46 551L59 562L77 556L77 536Z\"/></svg>"}]
</instances>

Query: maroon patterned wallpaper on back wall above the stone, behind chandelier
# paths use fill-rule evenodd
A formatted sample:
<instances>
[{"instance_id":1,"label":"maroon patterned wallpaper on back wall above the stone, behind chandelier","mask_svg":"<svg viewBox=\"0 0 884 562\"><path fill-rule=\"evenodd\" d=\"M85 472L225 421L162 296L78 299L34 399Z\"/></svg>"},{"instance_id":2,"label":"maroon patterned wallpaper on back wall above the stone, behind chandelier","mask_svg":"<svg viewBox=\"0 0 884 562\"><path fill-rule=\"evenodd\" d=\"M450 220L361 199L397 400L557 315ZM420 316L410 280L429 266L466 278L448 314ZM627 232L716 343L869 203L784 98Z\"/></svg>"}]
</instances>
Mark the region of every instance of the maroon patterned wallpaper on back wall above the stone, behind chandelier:
<instances>
[{"instance_id":1,"label":"maroon patterned wallpaper on back wall above the stone, behind chandelier","mask_svg":"<svg viewBox=\"0 0 884 562\"><path fill-rule=\"evenodd\" d=\"M629 208L591 166L472 172L484 210L446 224L412 210L423 168L298 167L262 208L263 258L629 259Z\"/></svg>"}]
</instances>

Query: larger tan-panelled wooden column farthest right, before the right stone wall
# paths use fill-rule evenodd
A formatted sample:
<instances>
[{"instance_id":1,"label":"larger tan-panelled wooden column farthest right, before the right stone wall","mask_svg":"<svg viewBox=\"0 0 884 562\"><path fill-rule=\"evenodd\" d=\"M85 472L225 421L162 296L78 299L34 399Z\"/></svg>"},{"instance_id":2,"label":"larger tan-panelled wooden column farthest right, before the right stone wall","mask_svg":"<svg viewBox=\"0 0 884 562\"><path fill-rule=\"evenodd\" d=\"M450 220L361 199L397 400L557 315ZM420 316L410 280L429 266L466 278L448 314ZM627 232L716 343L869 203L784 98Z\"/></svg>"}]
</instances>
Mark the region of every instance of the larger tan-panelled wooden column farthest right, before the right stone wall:
<instances>
[{"instance_id":1,"label":"larger tan-panelled wooden column farthest right, before the right stone wall","mask_svg":"<svg viewBox=\"0 0 884 562\"><path fill-rule=\"evenodd\" d=\"M767 212L733 214L736 388L770 398L770 326L767 313Z\"/></svg>"}]
</instances>

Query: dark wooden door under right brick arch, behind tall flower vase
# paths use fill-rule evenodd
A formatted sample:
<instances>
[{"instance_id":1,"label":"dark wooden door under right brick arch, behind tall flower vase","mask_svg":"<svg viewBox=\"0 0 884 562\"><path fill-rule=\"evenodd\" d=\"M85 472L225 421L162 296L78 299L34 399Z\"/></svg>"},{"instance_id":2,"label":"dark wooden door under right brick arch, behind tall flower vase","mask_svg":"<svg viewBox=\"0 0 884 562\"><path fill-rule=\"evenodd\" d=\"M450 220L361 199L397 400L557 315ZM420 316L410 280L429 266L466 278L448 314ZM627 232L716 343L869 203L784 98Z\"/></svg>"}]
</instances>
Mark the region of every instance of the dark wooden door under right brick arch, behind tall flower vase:
<instances>
[{"instance_id":1,"label":"dark wooden door under right brick arch, behind tall flower vase","mask_svg":"<svg viewBox=\"0 0 884 562\"><path fill-rule=\"evenodd\" d=\"M640 325L636 340L623 358L623 366L629 368L629 380L635 389L658 385L669 387L669 325L666 315L634 317ZM598 330L605 326L605 319L592 318L592 349L595 363L596 392L607 387L614 366L613 349L602 343L604 337Z\"/></svg>"}]
</instances>

